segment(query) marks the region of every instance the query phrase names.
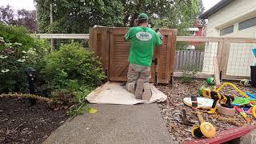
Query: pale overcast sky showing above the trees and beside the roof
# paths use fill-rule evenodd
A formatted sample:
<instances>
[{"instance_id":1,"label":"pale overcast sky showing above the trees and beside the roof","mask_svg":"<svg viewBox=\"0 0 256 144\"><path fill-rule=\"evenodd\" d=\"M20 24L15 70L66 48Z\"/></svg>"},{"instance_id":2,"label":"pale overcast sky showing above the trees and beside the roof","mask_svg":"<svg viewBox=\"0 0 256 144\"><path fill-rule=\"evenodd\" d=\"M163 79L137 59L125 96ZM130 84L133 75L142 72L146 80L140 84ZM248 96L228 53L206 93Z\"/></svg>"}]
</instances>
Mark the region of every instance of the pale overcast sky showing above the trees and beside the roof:
<instances>
[{"instance_id":1,"label":"pale overcast sky showing above the trees and beside the roof","mask_svg":"<svg viewBox=\"0 0 256 144\"><path fill-rule=\"evenodd\" d=\"M206 10L209 10L210 7L214 6L221 0L202 0L203 5ZM18 9L26 9L26 10L34 10L34 0L0 0L0 6L10 5L14 8L14 10Z\"/></svg>"}]
</instances>

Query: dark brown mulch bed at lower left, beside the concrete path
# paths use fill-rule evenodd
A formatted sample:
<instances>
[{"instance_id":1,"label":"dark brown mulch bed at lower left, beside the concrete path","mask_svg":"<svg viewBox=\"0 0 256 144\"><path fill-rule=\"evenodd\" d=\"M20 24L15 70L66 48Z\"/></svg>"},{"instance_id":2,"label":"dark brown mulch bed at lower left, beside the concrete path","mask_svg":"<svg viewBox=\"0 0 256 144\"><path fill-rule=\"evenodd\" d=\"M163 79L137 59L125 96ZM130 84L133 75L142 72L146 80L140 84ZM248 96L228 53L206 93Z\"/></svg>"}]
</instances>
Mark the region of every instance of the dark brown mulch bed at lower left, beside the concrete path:
<instances>
[{"instance_id":1,"label":"dark brown mulch bed at lower left, beside the concrete path","mask_svg":"<svg viewBox=\"0 0 256 144\"><path fill-rule=\"evenodd\" d=\"M42 143L66 121L65 113L46 102L29 106L24 98L0 98L0 143Z\"/></svg>"}]
</instances>

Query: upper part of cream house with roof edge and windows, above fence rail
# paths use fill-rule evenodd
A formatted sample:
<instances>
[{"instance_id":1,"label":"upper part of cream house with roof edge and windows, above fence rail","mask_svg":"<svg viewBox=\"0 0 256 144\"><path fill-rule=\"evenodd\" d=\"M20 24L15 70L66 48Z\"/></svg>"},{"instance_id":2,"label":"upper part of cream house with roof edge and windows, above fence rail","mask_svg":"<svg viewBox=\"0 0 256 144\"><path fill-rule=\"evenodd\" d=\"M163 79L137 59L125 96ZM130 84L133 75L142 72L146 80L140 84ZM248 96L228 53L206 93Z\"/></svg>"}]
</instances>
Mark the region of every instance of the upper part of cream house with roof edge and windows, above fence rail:
<instances>
[{"instance_id":1,"label":"upper part of cream house with roof edge and windows, above fence rail","mask_svg":"<svg viewBox=\"0 0 256 144\"><path fill-rule=\"evenodd\" d=\"M201 15L207 37L256 38L256 1L222 0Z\"/></svg>"}]
</instances>

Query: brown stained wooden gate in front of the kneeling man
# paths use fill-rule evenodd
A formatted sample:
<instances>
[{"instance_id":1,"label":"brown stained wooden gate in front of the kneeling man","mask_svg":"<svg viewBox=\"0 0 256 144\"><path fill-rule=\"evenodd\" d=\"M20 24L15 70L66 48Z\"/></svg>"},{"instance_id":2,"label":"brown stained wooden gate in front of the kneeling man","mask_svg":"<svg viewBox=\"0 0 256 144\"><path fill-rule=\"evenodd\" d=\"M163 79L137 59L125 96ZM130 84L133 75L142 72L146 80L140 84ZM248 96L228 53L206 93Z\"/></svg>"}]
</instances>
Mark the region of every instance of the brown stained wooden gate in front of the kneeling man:
<instances>
[{"instance_id":1,"label":"brown stained wooden gate in front of the kneeling man","mask_svg":"<svg viewBox=\"0 0 256 144\"><path fill-rule=\"evenodd\" d=\"M110 81L126 81L130 43L124 40L129 28L95 28L90 30L90 50L102 57L102 66ZM151 82L170 83L174 73L176 30L160 30L162 46L154 50L158 66L151 66Z\"/></svg>"}]
</instances>

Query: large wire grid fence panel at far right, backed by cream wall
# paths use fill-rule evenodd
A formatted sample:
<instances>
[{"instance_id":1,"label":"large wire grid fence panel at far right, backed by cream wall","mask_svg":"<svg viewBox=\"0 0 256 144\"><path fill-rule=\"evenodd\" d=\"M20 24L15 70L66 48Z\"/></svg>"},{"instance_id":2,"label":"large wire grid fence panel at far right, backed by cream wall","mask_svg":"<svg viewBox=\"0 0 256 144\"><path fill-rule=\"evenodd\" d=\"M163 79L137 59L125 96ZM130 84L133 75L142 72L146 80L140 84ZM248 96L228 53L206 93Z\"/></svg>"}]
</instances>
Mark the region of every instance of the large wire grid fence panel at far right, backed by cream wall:
<instances>
[{"instance_id":1,"label":"large wire grid fence panel at far right, backed by cream wall","mask_svg":"<svg viewBox=\"0 0 256 144\"><path fill-rule=\"evenodd\" d=\"M226 75L250 76L250 66L254 65L256 58L251 51L256 43L230 43Z\"/></svg>"}]
</instances>

